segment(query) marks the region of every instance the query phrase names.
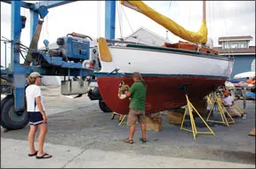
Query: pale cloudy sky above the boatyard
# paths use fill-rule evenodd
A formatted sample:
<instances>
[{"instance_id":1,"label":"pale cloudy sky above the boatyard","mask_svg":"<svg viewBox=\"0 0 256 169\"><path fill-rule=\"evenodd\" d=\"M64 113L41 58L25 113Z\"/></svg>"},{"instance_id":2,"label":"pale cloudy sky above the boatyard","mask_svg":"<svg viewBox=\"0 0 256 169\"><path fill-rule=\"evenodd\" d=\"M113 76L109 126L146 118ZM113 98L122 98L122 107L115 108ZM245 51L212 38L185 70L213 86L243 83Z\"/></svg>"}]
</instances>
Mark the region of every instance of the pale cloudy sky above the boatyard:
<instances>
[{"instance_id":1,"label":"pale cloudy sky above the boatyard","mask_svg":"<svg viewBox=\"0 0 256 169\"><path fill-rule=\"evenodd\" d=\"M35 3L38 1L35 1ZM149 7L174 20L187 30L197 32L202 23L202 1L143 1ZM29 1L29 3L34 3ZM30 14L21 8L20 14L27 17L22 29L21 42L29 46ZM251 35L250 45L255 45L255 1L206 1L206 22L208 37L213 45L219 46L220 36ZM146 27L157 35L166 37L166 29L140 12L116 2L116 38L127 37L140 27ZM38 42L43 46L44 39L50 43L68 33L80 33L92 38L105 35L105 2L79 1L49 9L44 18L42 33ZM11 39L11 4L1 2L1 39ZM181 39L168 33L171 42ZM7 45L7 64L10 62L10 45ZM22 58L20 59L22 60ZM4 63L4 43L1 42L1 65Z\"/></svg>"}]
</instances>

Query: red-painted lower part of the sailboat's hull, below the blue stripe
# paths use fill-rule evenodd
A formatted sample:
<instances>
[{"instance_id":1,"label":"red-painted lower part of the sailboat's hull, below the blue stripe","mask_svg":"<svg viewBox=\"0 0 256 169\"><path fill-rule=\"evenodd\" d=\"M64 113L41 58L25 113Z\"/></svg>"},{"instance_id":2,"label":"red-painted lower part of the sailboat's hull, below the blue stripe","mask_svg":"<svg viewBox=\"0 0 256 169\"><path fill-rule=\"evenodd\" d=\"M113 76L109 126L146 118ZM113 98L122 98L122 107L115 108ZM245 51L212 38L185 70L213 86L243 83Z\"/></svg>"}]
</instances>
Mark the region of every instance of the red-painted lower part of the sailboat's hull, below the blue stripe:
<instances>
[{"instance_id":1,"label":"red-painted lower part of the sailboat's hull, below the blue stripe","mask_svg":"<svg viewBox=\"0 0 256 169\"><path fill-rule=\"evenodd\" d=\"M152 77L143 76L148 86L146 97L146 114L178 108L186 104L184 90L179 90L181 84L189 83L187 87L190 101L202 100L212 92L212 89L224 84L226 79L209 77ZM100 96L108 108L120 114L127 114L130 100L120 99L118 86L124 80L130 87L132 77L98 77Z\"/></svg>"}]
</instances>

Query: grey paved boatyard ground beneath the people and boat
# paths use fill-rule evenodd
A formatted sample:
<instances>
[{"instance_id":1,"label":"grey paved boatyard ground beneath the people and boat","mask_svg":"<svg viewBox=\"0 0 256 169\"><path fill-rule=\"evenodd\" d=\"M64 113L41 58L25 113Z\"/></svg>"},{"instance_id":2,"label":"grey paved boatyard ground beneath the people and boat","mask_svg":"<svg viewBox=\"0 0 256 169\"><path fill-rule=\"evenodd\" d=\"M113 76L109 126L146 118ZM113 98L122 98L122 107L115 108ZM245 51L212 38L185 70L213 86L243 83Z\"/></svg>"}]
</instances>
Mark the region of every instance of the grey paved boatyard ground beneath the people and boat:
<instances>
[{"instance_id":1,"label":"grey paved boatyard ground beneath the people and boat","mask_svg":"<svg viewBox=\"0 0 256 169\"><path fill-rule=\"evenodd\" d=\"M125 121L118 126L118 118L100 111L98 101L61 96L60 88L42 87L42 92L49 126L44 150L53 157L28 157L27 126L1 132L1 167L255 168L255 136L248 135L255 127L253 100L247 100L247 118L235 119L231 127L209 123L215 135L197 134L194 140L192 133L169 124L165 112L162 132L147 131L149 141L142 144L138 125L134 143L127 144ZM236 103L242 107L242 101ZM207 131L198 118L196 125Z\"/></svg>"}]
</instances>

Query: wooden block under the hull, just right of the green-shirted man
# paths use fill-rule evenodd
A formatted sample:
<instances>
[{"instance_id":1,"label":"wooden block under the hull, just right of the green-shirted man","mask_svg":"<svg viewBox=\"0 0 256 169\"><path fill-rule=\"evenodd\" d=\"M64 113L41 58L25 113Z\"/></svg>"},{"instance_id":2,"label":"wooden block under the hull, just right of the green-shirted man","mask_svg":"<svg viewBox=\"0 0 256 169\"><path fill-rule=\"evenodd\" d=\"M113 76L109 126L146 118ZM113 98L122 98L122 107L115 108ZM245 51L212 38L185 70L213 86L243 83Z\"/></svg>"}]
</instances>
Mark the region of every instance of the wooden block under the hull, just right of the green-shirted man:
<instances>
[{"instance_id":1,"label":"wooden block under the hull, just right of the green-shirted man","mask_svg":"<svg viewBox=\"0 0 256 169\"><path fill-rule=\"evenodd\" d=\"M146 129L148 131L155 131L155 132L160 132L163 129L162 126L162 117L155 116L152 118L149 118L148 116L145 117L146 120Z\"/></svg>"}]
</instances>

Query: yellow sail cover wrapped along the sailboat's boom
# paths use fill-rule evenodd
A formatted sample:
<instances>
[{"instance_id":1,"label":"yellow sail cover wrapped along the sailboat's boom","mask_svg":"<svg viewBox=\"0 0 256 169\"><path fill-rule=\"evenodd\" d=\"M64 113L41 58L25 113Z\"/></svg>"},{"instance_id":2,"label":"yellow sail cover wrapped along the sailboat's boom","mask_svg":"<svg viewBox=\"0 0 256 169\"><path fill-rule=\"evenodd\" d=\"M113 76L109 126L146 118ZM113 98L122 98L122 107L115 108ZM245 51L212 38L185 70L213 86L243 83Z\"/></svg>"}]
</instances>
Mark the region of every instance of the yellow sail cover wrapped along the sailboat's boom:
<instances>
[{"instance_id":1,"label":"yellow sail cover wrapped along the sailboat's boom","mask_svg":"<svg viewBox=\"0 0 256 169\"><path fill-rule=\"evenodd\" d=\"M146 15L148 18L153 19L154 21L156 21L156 23L171 31L172 34L177 35L180 38L187 40L188 42L197 42L203 44L207 42L207 27L205 19L203 19L203 23L199 31L192 32L186 30L184 27L181 27L172 19L169 19L161 13L156 12L147 4L144 4L141 1L121 1L121 4Z\"/></svg>"}]
</instances>

